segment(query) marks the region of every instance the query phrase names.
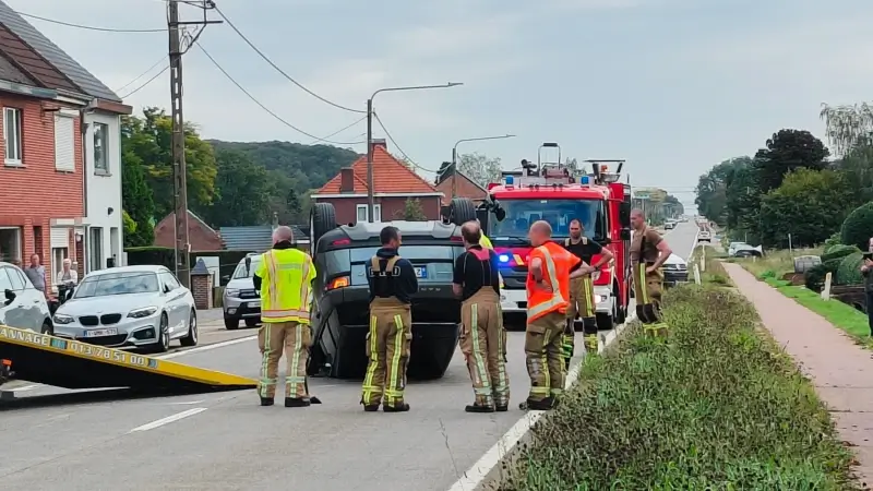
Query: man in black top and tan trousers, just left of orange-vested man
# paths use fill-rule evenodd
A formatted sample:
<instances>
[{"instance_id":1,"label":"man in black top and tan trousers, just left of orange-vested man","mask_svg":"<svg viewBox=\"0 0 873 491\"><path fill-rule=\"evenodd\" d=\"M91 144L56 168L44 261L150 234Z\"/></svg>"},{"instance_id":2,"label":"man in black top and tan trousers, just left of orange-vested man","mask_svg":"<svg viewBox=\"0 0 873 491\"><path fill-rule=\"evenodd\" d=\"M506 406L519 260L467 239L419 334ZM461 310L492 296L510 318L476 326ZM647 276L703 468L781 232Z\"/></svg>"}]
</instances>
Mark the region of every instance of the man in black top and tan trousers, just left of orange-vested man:
<instances>
[{"instance_id":1,"label":"man in black top and tan trousers, just left of orange-vested man","mask_svg":"<svg viewBox=\"0 0 873 491\"><path fill-rule=\"evenodd\" d=\"M467 412L505 411L510 383L504 364L503 319L500 311L498 256L481 246L476 221L461 227L466 251L455 261L452 288L462 298L461 351L467 360L476 400Z\"/></svg>"}]
</instances>

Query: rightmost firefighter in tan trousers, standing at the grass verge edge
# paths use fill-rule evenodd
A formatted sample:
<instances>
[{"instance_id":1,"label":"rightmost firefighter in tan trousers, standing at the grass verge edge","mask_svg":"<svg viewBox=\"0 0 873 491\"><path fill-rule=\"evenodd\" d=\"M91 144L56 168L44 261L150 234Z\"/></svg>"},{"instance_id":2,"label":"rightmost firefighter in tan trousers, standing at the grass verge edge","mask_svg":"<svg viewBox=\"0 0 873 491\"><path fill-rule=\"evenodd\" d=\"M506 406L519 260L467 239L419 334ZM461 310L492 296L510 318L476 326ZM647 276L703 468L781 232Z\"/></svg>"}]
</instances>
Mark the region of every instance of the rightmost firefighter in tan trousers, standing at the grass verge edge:
<instances>
[{"instance_id":1,"label":"rightmost firefighter in tan trousers, standing at the grass verge edge","mask_svg":"<svg viewBox=\"0 0 873 491\"><path fill-rule=\"evenodd\" d=\"M666 334L667 325L660 319L660 301L663 291L661 265L673 251L657 230L646 225L646 217L642 209L631 212L631 227L634 229L630 252L636 316L639 318L646 333L656 336Z\"/></svg>"}]
</instances>

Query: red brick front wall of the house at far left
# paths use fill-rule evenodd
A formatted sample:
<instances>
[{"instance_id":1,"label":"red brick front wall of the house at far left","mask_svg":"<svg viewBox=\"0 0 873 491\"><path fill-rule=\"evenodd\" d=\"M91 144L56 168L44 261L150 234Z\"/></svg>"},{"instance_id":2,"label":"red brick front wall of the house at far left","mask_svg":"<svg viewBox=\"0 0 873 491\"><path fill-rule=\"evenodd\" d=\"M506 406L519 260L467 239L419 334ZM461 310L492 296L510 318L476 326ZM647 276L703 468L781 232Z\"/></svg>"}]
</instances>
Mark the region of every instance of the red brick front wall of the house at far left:
<instances>
[{"instance_id":1,"label":"red brick front wall of the house at far left","mask_svg":"<svg viewBox=\"0 0 873 491\"><path fill-rule=\"evenodd\" d=\"M38 253L46 266L51 285L51 251L49 249L52 218L81 218L84 213L83 166L81 121L74 122L75 170L60 172L55 169L55 109L61 106L53 101L0 93L0 107L15 107L22 110L22 163L24 167L13 168L3 164L5 148L0 137L0 226L22 227L23 256L27 264L34 252ZM2 113L0 113L2 116ZM0 135L3 131L0 117ZM43 237L34 240L34 228L40 227ZM41 242L41 243L40 243ZM70 251L72 254L73 251Z\"/></svg>"}]
</instances>

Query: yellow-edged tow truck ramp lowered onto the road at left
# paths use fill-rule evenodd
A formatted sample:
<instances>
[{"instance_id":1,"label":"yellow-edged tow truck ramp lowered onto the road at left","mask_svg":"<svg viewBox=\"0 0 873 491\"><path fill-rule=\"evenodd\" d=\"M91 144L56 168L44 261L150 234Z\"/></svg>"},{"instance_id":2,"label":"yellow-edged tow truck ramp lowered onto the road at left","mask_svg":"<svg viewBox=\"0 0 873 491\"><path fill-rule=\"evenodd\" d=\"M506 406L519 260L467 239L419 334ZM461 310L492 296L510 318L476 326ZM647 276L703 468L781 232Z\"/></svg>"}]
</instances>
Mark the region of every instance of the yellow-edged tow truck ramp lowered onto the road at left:
<instances>
[{"instance_id":1,"label":"yellow-edged tow truck ramp lowered onto the road at left","mask_svg":"<svg viewBox=\"0 0 873 491\"><path fill-rule=\"evenodd\" d=\"M0 325L0 359L11 361L14 379L71 390L128 387L141 393L198 394L258 384L243 376L5 325Z\"/></svg>"}]
</instances>

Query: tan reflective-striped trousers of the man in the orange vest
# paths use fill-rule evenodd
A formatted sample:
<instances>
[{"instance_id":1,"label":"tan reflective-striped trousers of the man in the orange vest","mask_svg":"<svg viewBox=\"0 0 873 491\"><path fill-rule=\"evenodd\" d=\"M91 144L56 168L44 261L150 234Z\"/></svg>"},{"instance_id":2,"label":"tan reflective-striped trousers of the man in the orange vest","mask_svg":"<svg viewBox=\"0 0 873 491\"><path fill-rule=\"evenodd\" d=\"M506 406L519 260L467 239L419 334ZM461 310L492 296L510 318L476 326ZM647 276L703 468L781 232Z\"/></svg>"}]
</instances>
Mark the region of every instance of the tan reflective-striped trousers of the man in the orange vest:
<instances>
[{"instance_id":1,"label":"tan reflective-striped trousers of the man in the orange vest","mask_svg":"<svg viewBox=\"0 0 873 491\"><path fill-rule=\"evenodd\" d=\"M566 368L561 350L561 339L566 325L566 313L550 312L527 322L525 355L527 374L530 375L528 400L540 402L558 397L564 392Z\"/></svg>"}]
</instances>

